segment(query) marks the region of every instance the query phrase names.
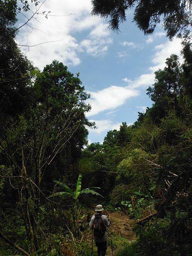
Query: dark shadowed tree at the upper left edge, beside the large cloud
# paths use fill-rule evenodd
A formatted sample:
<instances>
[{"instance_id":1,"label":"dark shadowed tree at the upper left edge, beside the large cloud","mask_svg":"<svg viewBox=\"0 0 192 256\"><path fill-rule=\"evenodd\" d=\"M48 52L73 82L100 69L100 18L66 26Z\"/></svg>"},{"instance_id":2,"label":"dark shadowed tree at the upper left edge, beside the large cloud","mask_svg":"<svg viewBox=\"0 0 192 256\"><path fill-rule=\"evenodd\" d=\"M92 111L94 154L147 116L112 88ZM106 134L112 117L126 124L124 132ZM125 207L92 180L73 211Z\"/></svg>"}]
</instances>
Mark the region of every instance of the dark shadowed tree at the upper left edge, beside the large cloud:
<instances>
[{"instance_id":1,"label":"dark shadowed tree at the upper left edge, beside the large cloud","mask_svg":"<svg viewBox=\"0 0 192 256\"><path fill-rule=\"evenodd\" d=\"M30 61L15 42L17 1L0 1L0 113L17 116L30 104ZM5 122L5 119L4 119Z\"/></svg>"}]
</instances>

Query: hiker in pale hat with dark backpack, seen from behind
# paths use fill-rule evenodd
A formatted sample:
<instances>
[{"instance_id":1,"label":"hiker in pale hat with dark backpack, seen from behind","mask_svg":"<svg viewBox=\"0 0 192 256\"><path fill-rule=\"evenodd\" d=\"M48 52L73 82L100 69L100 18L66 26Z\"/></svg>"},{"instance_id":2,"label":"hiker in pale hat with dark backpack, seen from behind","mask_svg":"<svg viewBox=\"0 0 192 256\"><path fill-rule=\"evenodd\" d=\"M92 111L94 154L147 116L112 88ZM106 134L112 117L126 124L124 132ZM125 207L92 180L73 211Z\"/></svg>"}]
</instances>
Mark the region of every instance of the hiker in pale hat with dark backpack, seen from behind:
<instances>
[{"instance_id":1,"label":"hiker in pale hat with dark backpack, seen from behind","mask_svg":"<svg viewBox=\"0 0 192 256\"><path fill-rule=\"evenodd\" d=\"M102 214L103 207L101 204L96 206L95 211L96 214L92 216L89 227L93 229L98 256L105 256L107 250L106 227L109 227L110 221L106 215Z\"/></svg>"}]
</instances>

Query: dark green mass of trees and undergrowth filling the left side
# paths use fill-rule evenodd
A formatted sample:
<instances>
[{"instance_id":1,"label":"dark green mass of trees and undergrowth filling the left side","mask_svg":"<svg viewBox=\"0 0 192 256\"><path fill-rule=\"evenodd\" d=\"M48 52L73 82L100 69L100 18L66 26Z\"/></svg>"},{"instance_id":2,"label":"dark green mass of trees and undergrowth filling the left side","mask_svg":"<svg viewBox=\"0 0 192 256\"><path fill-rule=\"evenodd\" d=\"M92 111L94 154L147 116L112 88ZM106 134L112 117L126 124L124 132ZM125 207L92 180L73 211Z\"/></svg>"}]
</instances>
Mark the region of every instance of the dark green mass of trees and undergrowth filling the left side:
<instances>
[{"instance_id":1,"label":"dark green mass of trees and undergrowth filling the left side","mask_svg":"<svg viewBox=\"0 0 192 256\"><path fill-rule=\"evenodd\" d=\"M5 39L6 37L0 38L1 45ZM47 242L44 244L47 247L43 248L42 236L45 233L47 237L51 237L51 233L56 232L55 226L63 231L63 228L53 223L57 223L59 219L64 223L64 213L59 216L55 205L47 212L44 210L48 208L45 201L61 204L61 201L57 203L49 200L47 191L52 189L50 181L58 179L61 174L68 181L65 171L69 167L75 169L76 159L87 143L88 132L85 125L93 124L85 117L85 113L90 110L90 106L85 103L89 95L84 92L79 76L73 76L58 61L47 65L43 72L34 70L17 49L14 35L10 36L8 42L8 46L3 47L0 52L3 60L0 64L0 76L3 79L0 90L0 119L3 123L0 128L0 175L5 176L5 180L0 179L0 204L6 221L7 218L12 218L7 217L8 212L15 209L13 223L18 220L22 220L22 223L18 230L14 225L16 233L9 233L13 225L9 230L3 228L2 231L24 250L30 250L34 256L35 253L42 254L50 246ZM73 158L70 157L72 152ZM59 159L64 162L62 168L59 166ZM64 189L67 191L55 195L66 196L68 193L68 196L73 191L67 186ZM91 192L93 191L90 189L89 193ZM68 197L66 198L65 201L69 204ZM76 210L71 209L70 224L74 222L73 217L76 215ZM5 227L6 221L3 222ZM67 225L70 226L69 223ZM59 253L60 246L57 242L53 246ZM6 245L6 250L9 247L10 244ZM14 253L9 250L10 255Z\"/></svg>"}]
</instances>

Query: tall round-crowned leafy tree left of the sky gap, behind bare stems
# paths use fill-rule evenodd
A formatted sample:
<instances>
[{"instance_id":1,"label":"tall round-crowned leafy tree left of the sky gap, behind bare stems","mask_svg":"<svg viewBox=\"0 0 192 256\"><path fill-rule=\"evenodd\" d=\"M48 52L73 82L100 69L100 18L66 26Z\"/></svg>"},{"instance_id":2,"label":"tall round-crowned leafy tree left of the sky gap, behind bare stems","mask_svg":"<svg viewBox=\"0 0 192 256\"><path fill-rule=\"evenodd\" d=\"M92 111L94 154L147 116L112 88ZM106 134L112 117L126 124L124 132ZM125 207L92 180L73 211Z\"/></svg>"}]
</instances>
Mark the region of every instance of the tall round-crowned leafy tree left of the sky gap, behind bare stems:
<instances>
[{"instance_id":1,"label":"tall round-crowned leafy tree left of the sky gap, behind bare stems","mask_svg":"<svg viewBox=\"0 0 192 256\"><path fill-rule=\"evenodd\" d=\"M0 140L1 176L18 189L20 212L30 242L31 255L38 250L38 214L47 198L42 187L47 186L46 175L55 167L55 157L85 124L90 106L89 97L78 77L67 71L58 61L47 65L43 72L35 72L31 105L13 122L10 118ZM6 189L6 188L5 188Z\"/></svg>"}]
</instances>

